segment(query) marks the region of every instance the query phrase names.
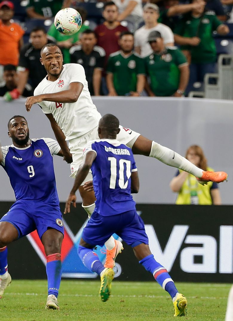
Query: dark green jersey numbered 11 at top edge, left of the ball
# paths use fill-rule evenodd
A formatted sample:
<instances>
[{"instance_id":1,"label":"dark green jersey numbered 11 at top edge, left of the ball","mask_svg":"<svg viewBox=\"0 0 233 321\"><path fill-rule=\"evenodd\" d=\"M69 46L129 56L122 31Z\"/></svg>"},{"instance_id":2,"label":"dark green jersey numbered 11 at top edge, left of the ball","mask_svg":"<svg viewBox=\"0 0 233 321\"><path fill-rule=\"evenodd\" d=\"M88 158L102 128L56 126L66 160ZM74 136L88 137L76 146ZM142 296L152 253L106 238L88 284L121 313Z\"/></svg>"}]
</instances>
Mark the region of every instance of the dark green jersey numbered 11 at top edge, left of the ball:
<instances>
[{"instance_id":1,"label":"dark green jersey numbered 11 at top edge, left of the ball","mask_svg":"<svg viewBox=\"0 0 233 321\"><path fill-rule=\"evenodd\" d=\"M61 10L63 0L29 0L27 8L33 7L36 13L44 17L53 17Z\"/></svg>"}]
</instances>

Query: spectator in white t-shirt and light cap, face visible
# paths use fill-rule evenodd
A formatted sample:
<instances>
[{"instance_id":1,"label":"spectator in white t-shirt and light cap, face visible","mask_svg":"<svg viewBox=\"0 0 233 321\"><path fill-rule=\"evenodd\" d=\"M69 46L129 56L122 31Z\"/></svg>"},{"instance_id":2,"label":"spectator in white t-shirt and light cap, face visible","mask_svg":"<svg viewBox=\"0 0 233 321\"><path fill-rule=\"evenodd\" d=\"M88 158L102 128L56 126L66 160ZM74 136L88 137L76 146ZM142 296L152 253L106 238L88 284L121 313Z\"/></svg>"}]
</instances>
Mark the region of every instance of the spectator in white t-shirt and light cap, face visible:
<instances>
[{"instance_id":1,"label":"spectator in white t-shirt and light cap, face visible","mask_svg":"<svg viewBox=\"0 0 233 321\"><path fill-rule=\"evenodd\" d=\"M136 30L134 34L134 50L143 58L152 53L152 49L147 41L151 31L156 30L161 33L166 47L174 46L174 35L172 30L168 26L165 26L165 24L159 23L158 18L159 8L157 4L148 3L143 7L145 25Z\"/></svg>"}]
</instances>

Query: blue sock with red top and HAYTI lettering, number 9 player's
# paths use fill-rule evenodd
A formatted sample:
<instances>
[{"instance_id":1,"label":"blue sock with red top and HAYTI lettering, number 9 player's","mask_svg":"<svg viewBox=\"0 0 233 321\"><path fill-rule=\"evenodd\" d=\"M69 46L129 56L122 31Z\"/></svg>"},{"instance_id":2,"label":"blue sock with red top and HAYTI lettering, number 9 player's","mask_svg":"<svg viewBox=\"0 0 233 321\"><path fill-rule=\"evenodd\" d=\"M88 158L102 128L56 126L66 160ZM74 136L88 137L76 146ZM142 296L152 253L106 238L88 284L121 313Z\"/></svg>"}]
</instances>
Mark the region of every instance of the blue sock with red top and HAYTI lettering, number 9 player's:
<instances>
[{"instance_id":1,"label":"blue sock with red top and HAYTI lettering, number 9 player's","mask_svg":"<svg viewBox=\"0 0 233 321\"><path fill-rule=\"evenodd\" d=\"M57 298L62 273L60 253L47 256L46 273L48 277L48 295L53 294Z\"/></svg>"}]
</instances>

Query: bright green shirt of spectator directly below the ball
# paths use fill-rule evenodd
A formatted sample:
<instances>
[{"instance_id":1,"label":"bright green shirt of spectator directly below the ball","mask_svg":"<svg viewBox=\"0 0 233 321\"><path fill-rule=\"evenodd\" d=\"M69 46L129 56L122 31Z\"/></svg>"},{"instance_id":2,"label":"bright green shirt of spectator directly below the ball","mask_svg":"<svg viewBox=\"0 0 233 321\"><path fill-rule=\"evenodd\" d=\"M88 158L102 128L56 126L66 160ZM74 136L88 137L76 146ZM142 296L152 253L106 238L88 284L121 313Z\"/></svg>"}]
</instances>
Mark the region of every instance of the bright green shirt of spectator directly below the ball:
<instances>
[{"instance_id":1,"label":"bright green shirt of spectator directly below the ball","mask_svg":"<svg viewBox=\"0 0 233 321\"><path fill-rule=\"evenodd\" d=\"M64 35L63 33L60 33L52 23L47 35L49 36L48 38L54 42L60 42L71 39L72 44L76 44L76 42L79 41L80 34L87 29L89 29L89 27L82 24L81 28L73 35ZM61 48L61 51L63 55L63 64L70 64L69 48Z\"/></svg>"}]
</instances>

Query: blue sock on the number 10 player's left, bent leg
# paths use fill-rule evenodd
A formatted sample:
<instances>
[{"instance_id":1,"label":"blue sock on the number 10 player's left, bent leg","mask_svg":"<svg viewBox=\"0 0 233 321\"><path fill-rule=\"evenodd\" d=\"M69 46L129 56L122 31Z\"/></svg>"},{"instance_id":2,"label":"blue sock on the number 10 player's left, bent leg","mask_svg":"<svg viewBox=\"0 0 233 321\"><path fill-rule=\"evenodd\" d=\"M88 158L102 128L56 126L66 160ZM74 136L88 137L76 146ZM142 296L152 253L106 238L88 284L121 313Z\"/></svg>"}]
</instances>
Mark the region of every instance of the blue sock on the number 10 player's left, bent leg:
<instances>
[{"instance_id":1,"label":"blue sock on the number 10 player's left, bent leg","mask_svg":"<svg viewBox=\"0 0 233 321\"><path fill-rule=\"evenodd\" d=\"M79 245L78 256L89 270L96 272L99 275L104 270L104 266L100 262L98 255L90 248Z\"/></svg>"}]
</instances>

